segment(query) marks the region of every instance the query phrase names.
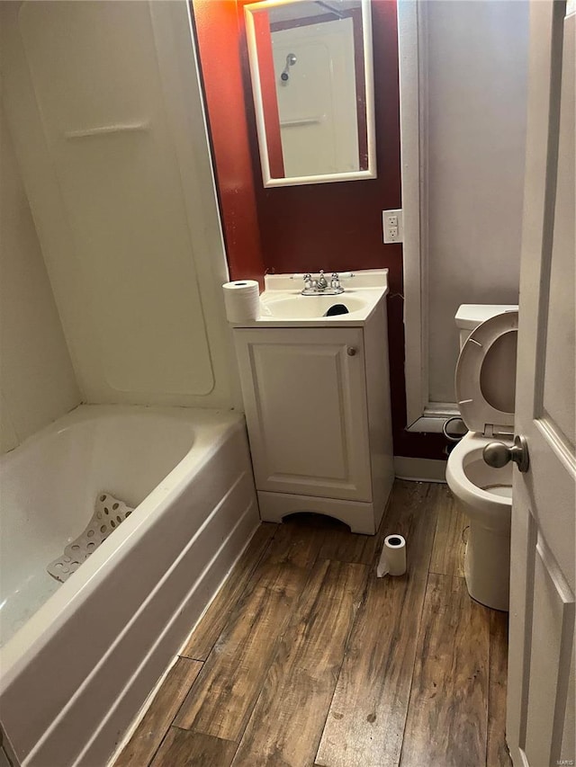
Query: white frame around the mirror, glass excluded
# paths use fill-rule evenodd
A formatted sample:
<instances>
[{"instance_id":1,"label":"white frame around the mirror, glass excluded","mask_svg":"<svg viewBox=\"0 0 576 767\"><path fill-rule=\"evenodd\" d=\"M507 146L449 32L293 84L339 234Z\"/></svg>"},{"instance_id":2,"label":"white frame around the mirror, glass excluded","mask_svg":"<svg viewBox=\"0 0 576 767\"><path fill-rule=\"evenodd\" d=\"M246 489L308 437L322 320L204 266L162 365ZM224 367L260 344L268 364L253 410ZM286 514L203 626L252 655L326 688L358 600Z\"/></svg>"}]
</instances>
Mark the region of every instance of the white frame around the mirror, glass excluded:
<instances>
[{"instance_id":1,"label":"white frame around the mirror, glass excluded","mask_svg":"<svg viewBox=\"0 0 576 767\"><path fill-rule=\"evenodd\" d=\"M352 171L342 174L322 174L307 176L292 176L290 178L272 178L270 175L270 162L268 158L268 145L266 141L266 124L264 121L264 104L262 89L260 87L260 71L257 57L256 28L253 12L266 11L281 5L289 5L303 2L303 0L263 0L260 3L251 3L244 6L246 21L248 57L250 61L250 78L252 81L252 94L254 95L254 109L256 111L258 147L260 150L260 165L262 166L262 180L265 187L271 186L298 186L305 183L332 183L339 181L360 181L376 178L376 139L374 126L374 66L372 54L372 15L370 12L371 0L360 0L362 7L362 38L364 43L364 68L366 88L366 133L368 146L368 169L365 171Z\"/></svg>"}]
</instances>

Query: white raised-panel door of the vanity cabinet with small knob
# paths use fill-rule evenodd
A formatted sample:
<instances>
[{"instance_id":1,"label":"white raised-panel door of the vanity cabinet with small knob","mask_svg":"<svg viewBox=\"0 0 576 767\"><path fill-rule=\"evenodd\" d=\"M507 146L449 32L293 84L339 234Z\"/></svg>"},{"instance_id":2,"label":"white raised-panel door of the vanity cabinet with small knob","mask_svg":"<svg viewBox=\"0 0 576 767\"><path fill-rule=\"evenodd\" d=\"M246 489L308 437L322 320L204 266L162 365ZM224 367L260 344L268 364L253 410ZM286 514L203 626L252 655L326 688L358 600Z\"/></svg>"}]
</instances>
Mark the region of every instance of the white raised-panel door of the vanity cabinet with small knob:
<instances>
[{"instance_id":1,"label":"white raised-panel door of the vanity cabinet with small knob","mask_svg":"<svg viewBox=\"0 0 576 767\"><path fill-rule=\"evenodd\" d=\"M258 490L371 501L361 328L234 335Z\"/></svg>"}]
</instances>

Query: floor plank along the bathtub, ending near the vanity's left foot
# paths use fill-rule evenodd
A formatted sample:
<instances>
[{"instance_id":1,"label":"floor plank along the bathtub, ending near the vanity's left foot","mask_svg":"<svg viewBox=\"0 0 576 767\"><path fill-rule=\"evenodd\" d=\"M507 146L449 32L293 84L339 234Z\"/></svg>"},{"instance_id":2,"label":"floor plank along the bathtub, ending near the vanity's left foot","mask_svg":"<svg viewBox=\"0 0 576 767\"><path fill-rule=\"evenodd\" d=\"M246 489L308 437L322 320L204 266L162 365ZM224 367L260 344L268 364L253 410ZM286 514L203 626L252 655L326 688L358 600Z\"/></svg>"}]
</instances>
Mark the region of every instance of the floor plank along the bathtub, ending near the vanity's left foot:
<instances>
[{"instance_id":1,"label":"floor plank along the bathtub, ending near the vanity's left foot","mask_svg":"<svg viewBox=\"0 0 576 767\"><path fill-rule=\"evenodd\" d=\"M219 593L202 616L181 655L204 661L220 637L229 613L244 593L258 562L264 557L278 525L263 522L230 572Z\"/></svg>"}]
</instances>

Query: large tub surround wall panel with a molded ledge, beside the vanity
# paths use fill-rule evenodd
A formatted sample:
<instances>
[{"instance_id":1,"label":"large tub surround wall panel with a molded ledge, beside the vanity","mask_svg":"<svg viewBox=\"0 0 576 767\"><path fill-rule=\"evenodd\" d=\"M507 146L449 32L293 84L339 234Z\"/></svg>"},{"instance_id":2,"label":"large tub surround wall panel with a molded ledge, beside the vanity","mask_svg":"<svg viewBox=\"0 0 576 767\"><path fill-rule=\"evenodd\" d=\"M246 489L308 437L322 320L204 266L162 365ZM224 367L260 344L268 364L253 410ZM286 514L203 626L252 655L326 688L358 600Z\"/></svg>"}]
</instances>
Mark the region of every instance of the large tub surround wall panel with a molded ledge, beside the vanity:
<instances>
[{"instance_id":1,"label":"large tub surround wall panel with a molded ledge, beside the vanity","mask_svg":"<svg viewBox=\"0 0 576 767\"><path fill-rule=\"evenodd\" d=\"M5 102L88 402L230 406L218 207L177 3L0 3Z\"/></svg>"}]
</instances>

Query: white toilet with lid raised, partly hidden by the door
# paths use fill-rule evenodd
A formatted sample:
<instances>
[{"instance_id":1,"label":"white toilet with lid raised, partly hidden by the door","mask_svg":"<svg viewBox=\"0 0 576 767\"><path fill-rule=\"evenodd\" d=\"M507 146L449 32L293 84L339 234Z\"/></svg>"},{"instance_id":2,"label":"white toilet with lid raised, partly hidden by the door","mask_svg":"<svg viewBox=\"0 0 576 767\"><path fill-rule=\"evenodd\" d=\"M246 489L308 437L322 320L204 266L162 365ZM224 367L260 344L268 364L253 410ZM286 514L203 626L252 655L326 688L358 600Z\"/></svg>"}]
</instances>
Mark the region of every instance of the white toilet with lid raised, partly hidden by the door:
<instances>
[{"instance_id":1,"label":"white toilet with lid raised, partly hidden by the door","mask_svg":"<svg viewBox=\"0 0 576 767\"><path fill-rule=\"evenodd\" d=\"M511 446L514 439L518 306L464 304L455 321L455 392L469 431L448 457L446 481L470 525L464 557L468 593L508 611L512 463L491 468L482 450L492 441Z\"/></svg>"}]
</instances>

